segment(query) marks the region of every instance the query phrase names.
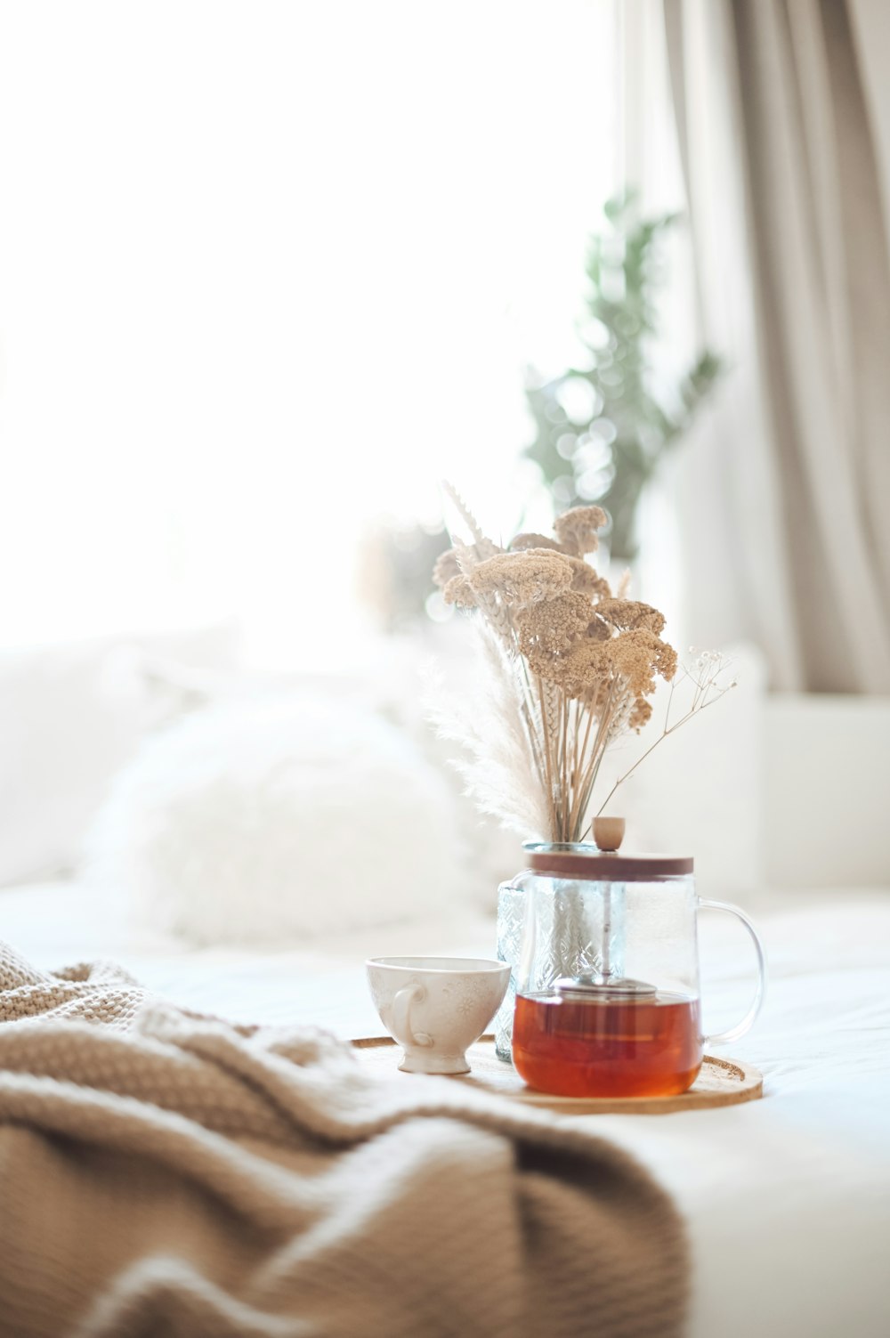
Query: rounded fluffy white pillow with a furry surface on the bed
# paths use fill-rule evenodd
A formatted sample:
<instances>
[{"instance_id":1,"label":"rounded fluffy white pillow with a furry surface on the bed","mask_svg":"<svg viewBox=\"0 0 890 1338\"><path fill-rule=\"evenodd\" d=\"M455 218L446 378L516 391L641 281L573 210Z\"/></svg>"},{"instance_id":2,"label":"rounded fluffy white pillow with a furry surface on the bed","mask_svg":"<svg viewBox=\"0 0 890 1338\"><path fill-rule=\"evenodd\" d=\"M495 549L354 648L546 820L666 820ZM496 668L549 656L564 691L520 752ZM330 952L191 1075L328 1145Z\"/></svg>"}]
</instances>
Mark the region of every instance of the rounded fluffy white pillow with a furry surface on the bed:
<instances>
[{"instance_id":1,"label":"rounded fluffy white pillow with a furry surface on the bed","mask_svg":"<svg viewBox=\"0 0 890 1338\"><path fill-rule=\"evenodd\" d=\"M202 945L420 919L463 895L444 779L396 727L324 696L224 701L146 740L87 868Z\"/></svg>"}]
</instances>

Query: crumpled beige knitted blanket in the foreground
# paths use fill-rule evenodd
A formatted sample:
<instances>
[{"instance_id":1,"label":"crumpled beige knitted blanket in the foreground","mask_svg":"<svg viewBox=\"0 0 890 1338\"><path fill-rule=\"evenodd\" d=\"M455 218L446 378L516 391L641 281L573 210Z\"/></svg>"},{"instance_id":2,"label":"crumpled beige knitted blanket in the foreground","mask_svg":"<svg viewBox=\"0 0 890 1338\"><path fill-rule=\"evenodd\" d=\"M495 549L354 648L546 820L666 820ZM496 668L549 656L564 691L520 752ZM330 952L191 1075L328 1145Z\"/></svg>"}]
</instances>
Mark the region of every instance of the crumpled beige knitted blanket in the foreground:
<instances>
[{"instance_id":1,"label":"crumpled beige knitted blanket in the foreground","mask_svg":"<svg viewBox=\"0 0 890 1338\"><path fill-rule=\"evenodd\" d=\"M4 1338L672 1338L687 1286L596 1133L0 945Z\"/></svg>"}]
</instances>

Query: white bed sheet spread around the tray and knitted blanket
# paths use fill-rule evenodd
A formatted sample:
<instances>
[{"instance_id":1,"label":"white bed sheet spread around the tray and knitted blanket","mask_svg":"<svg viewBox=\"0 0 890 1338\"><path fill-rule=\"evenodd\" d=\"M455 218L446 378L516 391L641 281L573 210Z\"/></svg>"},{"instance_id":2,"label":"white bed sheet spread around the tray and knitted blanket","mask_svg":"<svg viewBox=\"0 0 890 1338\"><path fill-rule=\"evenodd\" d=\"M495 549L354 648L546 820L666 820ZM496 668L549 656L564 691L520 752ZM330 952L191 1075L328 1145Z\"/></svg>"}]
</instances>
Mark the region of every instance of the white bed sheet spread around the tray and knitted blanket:
<instances>
[{"instance_id":1,"label":"white bed sheet spread around the tray and knitted blanket","mask_svg":"<svg viewBox=\"0 0 890 1338\"><path fill-rule=\"evenodd\" d=\"M705 1026L716 1029L747 1006L752 962L743 933L713 919L703 917L701 950ZM729 1049L763 1070L763 1101L589 1119L653 1169L688 1219L692 1338L886 1338L890 894L783 896L759 919L771 965L767 1004L755 1030ZM43 884L0 892L0 937L43 966L114 957L150 987L240 1021L312 1018L357 1036L379 1030L365 955L491 955L494 926L443 915L423 929L365 931L298 951L190 953L135 935L76 884ZM596 1294L590 1301L596 1318Z\"/></svg>"}]
</instances>

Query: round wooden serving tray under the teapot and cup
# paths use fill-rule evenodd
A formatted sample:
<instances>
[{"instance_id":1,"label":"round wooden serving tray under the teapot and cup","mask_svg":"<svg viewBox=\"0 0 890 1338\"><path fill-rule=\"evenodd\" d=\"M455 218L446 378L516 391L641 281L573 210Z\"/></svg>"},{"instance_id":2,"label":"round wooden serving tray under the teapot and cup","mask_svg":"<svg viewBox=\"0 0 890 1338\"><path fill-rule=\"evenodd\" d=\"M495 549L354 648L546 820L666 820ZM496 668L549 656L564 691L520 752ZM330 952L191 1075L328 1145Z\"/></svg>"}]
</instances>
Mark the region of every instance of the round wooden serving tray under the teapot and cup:
<instances>
[{"instance_id":1,"label":"round wooden serving tray under the teapot and cup","mask_svg":"<svg viewBox=\"0 0 890 1338\"><path fill-rule=\"evenodd\" d=\"M380 1074L399 1073L396 1042L388 1036L365 1036L352 1042L363 1064ZM763 1096L763 1074L752 1064L737 1060L716 1060L705 1054L701 1072L688 1092L664 1097L573 1097L547 1096L526 1086L511 1064L505 1064L494 1052L494 1037L483 1036L467 1050L471 1073L452 1077L451 1082L497 1096L510 1097L522 1105L534 1105L562 1115L669 1115L672 1111L703 1111L716 1105L739 1105ZM399 1073L406 1081L416 1081L419 1074Z\"/></svg>"}]
</instances>

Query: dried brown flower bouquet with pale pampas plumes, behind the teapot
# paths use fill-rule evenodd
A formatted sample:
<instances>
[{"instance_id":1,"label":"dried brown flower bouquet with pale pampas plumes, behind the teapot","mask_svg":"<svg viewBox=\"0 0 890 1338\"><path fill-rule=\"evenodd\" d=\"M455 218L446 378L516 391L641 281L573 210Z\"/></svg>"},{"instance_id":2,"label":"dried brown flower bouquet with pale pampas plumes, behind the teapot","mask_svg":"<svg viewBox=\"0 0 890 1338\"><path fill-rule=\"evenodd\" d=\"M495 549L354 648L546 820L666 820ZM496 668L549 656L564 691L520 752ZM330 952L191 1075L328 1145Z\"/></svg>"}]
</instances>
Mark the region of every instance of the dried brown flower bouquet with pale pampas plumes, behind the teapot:
<instances>
[{"instance_id":1,"label":"dried brown flower bouquet with pale pampas plumes, behind the teapot","mask_svg":"<svg viewBox=\"0 0 890 1338\"><path fill-rule=\"evenodd\" d=\"M454 488L448 496L471 542L436 562L447 603L468 610L482 634L476 697L436 701L444 737L463 745L458 765L479 807L526 836L581 842L606 752L652 716L656 678L672 684L664 729L614 783L600 812L642 757L732 684L723 657L701 656L677 674L677 653L661 640L664 615L617 595L586 561L606 523L597 506L558 516L554 537L518 534L507 550L479 529ZM671 721L675 680L692 681L685 712Z\"/></svg>"}]
</instances>

